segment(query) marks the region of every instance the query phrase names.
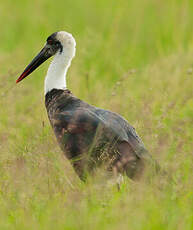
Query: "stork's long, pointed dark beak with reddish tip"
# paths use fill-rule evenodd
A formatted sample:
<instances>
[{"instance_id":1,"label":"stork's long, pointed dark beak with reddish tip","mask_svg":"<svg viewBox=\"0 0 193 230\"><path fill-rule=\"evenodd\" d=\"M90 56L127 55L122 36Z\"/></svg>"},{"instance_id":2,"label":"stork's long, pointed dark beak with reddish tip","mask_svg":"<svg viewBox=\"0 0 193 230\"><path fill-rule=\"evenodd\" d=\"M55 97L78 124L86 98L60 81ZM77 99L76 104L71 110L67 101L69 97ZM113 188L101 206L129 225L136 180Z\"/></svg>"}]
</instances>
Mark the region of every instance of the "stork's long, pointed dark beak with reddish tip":
<instances>
[{"instance_id":1,"label":"stork's long, pointed dark beak with reddish tip","mask_svg":"<svg viewBox=\"0 0 193 230\"><path fill-rule=\"evenodd\" d=\"M23 80L30 73L32 73L38 66L40 66L43 62L45 62L52 54L50 52L50 46L46 44L44 48L39 52L39 54L31 61L31 63L25 68L23 73L17 79L16 83Z\"/></svg>"}]
</instances>

